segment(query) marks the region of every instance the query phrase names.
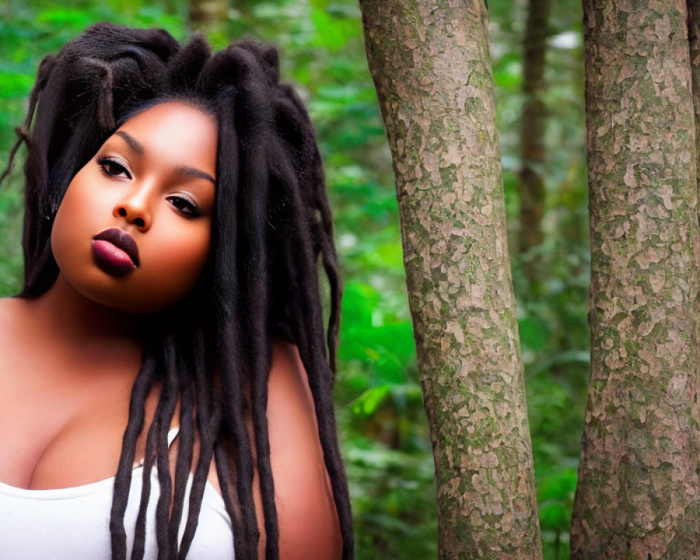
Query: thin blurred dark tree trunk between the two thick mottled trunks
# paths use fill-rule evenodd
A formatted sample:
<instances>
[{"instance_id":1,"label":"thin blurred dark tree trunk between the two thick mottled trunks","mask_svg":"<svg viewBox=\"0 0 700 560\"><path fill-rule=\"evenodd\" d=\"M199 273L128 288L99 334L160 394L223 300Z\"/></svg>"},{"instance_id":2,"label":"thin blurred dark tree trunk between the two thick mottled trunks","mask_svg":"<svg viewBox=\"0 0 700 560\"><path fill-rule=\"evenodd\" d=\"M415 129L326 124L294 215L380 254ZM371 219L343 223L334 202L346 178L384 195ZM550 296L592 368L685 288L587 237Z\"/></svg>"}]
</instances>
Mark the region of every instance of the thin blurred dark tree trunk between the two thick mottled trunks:
<instances>
[{"instance_id":1,"label":"thin blurred dark tree trunk between the two thick mottled trunks","mask_svg":"<svg viewBox=\"0 0 700 560\"><path fill-rule=\"evenodd\" d=\"M520 235L519 251L525 256L524 272L530 286L539 280L540 258L531 253L542 243L542 214L545 211L545 53L549 0L528 0L523 40L523 105L520 129ZM529 254L528 254L529 253Z\"/></svg>"}]
</instances>

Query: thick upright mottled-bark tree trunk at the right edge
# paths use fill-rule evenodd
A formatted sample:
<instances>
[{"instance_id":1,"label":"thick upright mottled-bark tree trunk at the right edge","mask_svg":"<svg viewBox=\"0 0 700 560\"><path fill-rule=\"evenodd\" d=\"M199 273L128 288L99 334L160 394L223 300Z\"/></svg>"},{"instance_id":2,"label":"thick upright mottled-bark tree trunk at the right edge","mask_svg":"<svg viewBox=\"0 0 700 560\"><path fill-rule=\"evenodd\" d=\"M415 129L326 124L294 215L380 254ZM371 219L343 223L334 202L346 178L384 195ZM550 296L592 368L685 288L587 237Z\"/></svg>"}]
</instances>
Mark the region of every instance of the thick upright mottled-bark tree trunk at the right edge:
<instances>
[{"instance_id":1,"label":"thick upright mottled-bark tree trunk at the right edge","mask_svg":"<svg viewBox=\"0 0 700 560\"><path fill-rule=\"evenodd\" d=\"M700 233L685 0L584 0L591 384L573 559L700 558Z\"/></svg>"}]
</instances>

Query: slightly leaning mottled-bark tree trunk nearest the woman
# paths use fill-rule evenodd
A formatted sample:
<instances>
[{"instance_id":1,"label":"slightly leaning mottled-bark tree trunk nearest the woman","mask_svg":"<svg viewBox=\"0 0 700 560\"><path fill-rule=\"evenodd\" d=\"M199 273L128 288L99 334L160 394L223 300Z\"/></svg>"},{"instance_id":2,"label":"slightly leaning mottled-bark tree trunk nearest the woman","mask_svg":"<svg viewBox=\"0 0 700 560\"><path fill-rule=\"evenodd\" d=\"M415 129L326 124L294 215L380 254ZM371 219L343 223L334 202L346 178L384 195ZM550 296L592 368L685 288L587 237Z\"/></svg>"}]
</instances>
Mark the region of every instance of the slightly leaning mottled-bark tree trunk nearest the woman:
<instances>
[{"instance_id":1,"label":"slightly leaning mottled-bark tree trunk nearest the woman","mask_svg":"<svg viewBox=\"0 0 700 560\"><path fill-rule=\"evenodd\" d=\"M440 558L539 559L483 0L362 0L435 455Z\"/></svg>"}]
</instances>

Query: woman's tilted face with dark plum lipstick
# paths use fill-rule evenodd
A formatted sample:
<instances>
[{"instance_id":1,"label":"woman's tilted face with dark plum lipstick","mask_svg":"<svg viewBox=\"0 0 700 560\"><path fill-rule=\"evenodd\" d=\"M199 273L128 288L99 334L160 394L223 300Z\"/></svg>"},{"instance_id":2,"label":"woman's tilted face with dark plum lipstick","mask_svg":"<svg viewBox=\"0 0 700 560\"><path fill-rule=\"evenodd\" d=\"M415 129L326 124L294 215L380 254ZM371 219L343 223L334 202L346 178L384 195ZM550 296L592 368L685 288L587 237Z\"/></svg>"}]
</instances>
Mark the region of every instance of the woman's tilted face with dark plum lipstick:
<instances>
[{"instance_id":1,"label":"woman's tilted face with dark plum lipstick","mask_svg":"<svg viewBox=\"0 0 700 560\"><path fill-rule=\"evenodd\" d=\"M127 120L73 177L51 248L61 274L91 300L131 313L171 307L209 256L217 127L165 102Z\"/></svg>"}]
</instances>

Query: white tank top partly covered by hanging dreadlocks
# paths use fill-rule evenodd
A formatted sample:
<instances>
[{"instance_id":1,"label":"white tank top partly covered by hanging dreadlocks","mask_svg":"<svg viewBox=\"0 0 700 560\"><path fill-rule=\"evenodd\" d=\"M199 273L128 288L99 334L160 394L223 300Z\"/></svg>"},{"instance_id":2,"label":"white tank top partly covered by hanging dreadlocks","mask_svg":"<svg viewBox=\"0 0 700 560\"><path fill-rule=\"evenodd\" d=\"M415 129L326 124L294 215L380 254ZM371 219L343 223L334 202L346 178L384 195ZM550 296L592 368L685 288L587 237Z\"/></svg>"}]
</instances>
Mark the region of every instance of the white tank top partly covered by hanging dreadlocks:
<instances>
[{"instance_id":1,"label":"white tank top partly covered by hanging dreadlocks","mask_svg":"<svg viewBox=\"0 0 700 560\"><path fill-rule=\"evenodd\" d=\"M168 434L169 443L176 428ZM144 468L132 472L129 501L124 515L127 558L134 544L134 527L139 513ZM0 482L0 560L109 560L111 539L109 518L114 477L48 490L28 490ZM180 538L185 530L192 475L188 481ZM160 485L151 470L151 499L146 512L145 560L158 557L155 538L155 506ZM231 520L223 498L207 482L202 509L188 560L233 560Z\"/></svg>"}]
</instances>

